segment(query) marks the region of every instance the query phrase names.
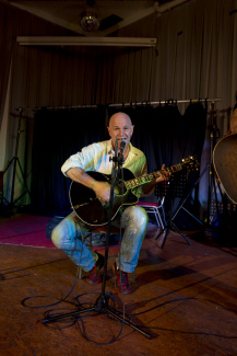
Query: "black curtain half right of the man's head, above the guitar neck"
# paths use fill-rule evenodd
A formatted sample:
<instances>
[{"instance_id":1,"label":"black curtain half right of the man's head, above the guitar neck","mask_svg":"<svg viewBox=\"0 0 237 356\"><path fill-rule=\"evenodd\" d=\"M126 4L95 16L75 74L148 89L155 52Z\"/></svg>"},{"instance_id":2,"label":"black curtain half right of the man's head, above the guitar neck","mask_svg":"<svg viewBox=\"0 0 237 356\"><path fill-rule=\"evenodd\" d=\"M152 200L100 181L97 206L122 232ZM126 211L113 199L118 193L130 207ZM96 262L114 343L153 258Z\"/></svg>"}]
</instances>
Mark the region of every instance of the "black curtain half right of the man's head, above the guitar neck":
<instances>
[{"instance_id":1,"label":"black curtain half right of the man's head, above the guitar neck","mask_svg":"<svg viewBox=\"0 0 237 356\"><path fill-rule=\"evenodd\" d=\"M177 104L153 107L108 107L109 117L116 112L127 113L134 124L132 145L146 158L149 172L170 166L183 158L201 158L205 138L206 108L201 103L190 104L181 115Z\"/></svg>"}]
</instances>

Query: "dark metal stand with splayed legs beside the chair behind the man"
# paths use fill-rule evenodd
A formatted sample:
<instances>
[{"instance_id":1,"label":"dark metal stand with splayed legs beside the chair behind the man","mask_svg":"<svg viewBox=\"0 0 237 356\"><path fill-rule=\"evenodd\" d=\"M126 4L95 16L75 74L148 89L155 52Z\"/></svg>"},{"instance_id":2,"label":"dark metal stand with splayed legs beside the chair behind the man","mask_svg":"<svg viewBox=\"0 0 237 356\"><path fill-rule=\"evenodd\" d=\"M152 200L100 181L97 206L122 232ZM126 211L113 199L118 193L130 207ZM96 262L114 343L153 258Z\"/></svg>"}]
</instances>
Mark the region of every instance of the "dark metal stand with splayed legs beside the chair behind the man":
<instances>
[{"instance_id":1,"label":"dark metal stand with splayed legs beside the chair behind the man","mask_svg":"<svg viewBox=\"0 0 237 356\"><path fill-rule=\"evenodd\" d=\"M179 205L178 209L176 210L175 215L173 215L173 199L174 199L174 196L171 198L171 206L170 206L170 217L169 217L169 221L168 223L166 225L165 229L163 229L158 236L155 238L155 240L158 239L158 237L161 237L164 232L165 232L165 237L164 237L164 240L163 240L163 243L162 243L162 246L161 249L164 248L165 245L165 242L166 242L166 239L167 239L167 236L169 233L169 231L173 229L173 230L176 230L187 242L188 244L190 245L191 242L186 238L186 236L178 229L178 227L176 226L176 223L174 222L174 220L176 219L177 215L179 214L179 211L181 209L183 209L187 214L189 214L189 216L191 216L195 221L198 221L200 225L203 225L201 220L199 220L195 216L193 216L188 209L186 209L183 207L183 205L186 204L186 202L188 200L188 198L190 197L192 191L195 188L197 184L199 184L201 177L203 176L203 174L205 173L205 171L209 169L209 164L206 164L205 169L202 171L202 173L200 174L199 179L195 181L194 185L192 186L192 188L189 191L189 193L187 194L187 196L185 197L185 199L182 200L182 203Z\"/></svg>"}]
</instances>

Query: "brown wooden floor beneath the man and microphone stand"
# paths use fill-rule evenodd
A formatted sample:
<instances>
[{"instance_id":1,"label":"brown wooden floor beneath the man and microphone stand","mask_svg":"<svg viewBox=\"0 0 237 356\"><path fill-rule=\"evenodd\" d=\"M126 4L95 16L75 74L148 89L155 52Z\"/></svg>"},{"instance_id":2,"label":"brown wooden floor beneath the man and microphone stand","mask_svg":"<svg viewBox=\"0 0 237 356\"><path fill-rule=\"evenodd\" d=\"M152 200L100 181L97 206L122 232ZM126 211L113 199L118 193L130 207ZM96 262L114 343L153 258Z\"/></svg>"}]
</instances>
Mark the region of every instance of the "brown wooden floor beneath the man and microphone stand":
<instances>
[{"instance_id":1,"label":"brown wooden floor beneath the man and microphone stand","mask_svg":"<svg viewBox=\"0 0 237 356\"><path fill-rule=\"evenodd\" d=\"M0 355L237 355L237 248L209 229L190 234L191 245L170 232L161 249L158 231L149 225L123 299L114 289L115 248L104 296L57 249L0 244ZM112 320L114 308L132 326Z\"/></svg>"}]
</instances>

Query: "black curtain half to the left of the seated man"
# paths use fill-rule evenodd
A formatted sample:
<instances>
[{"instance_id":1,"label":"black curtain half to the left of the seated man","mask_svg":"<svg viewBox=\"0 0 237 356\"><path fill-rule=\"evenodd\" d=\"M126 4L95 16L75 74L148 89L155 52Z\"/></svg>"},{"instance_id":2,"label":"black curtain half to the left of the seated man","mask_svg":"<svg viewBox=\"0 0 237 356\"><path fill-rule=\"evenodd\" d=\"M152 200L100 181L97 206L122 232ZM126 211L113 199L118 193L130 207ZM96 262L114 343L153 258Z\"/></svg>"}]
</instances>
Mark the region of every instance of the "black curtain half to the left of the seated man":
<instances>
[{"instance_id":1,"label":"black curtain half to the left of the seated man","mask_svg":"<svg viewBox=\"0 0 237 356\"><path fill-rule=\"evenodd\" d=\"M32 208L40 214L68 214L71 181L61 165L84 146L105 138L105 108L47 110L35 113Z\"/></svg>"}]
</instances>

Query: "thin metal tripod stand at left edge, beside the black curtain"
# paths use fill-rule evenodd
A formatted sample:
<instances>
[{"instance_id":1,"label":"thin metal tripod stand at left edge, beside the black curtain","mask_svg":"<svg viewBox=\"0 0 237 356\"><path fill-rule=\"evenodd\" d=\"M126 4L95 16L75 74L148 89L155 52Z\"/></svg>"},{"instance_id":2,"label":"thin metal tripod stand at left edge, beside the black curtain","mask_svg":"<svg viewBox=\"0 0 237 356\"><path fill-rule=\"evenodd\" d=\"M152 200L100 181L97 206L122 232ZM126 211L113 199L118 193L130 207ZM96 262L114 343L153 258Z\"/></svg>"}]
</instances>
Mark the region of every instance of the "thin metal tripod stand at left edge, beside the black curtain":
<instances>
[{"instance_id":1,"label":"thin metal tripod stand at left edge, beside the black curtain","mask_svg":"<svg viewBox=\"0 0 237 356\"><path fill-rule=\"evenodd\" d=\"M31 193L29 193L29 190L27 187L27 183L26 183L26 180L25 180L25 176L24 176L22 166L21 166L21 162L20 162L19 157L17 157L20 135L21 135L21 133L24 131L24 130L21 129L22 108L19 108L19 111L20 111L20 116L19 116L19 127L17 127L16 145L15 145L15 156L11 159L11 161L9 162L9 164L7 165L7 168L4 169L4 171L2 172L2 180L3 180L3 176L4 176L5 172L13 164L12 186L11 186L11 200L9 202L5 197L3 197L3 200L2 200L2 204L3 204L3 202L7 202L8 203L9 211L10 211L11 215L13 213L13 208L15 207L15 203L19 202L22 196L24 196L26 193L28 193L28 195L31 197ZM20 197L17 197L17 199L14 200L14 186L15 186L16 164L19 164L19 168L20 168L20 171L21 171L23 181L24 181L24 185L26 187L26 192L23 193Z\"/></svg>"}]
</instances>

